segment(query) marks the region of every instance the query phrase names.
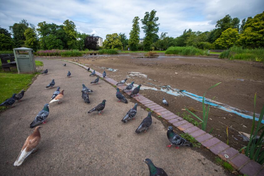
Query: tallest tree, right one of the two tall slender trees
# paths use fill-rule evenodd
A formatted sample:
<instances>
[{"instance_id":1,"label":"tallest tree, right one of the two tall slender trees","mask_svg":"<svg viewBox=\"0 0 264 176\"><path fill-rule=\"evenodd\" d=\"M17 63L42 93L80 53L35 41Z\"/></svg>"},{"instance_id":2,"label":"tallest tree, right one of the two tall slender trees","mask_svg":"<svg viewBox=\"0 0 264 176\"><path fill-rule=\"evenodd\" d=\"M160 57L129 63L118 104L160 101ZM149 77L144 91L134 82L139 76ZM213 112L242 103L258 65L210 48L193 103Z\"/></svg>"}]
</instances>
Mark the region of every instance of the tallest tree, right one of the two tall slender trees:
<instances>
[{"instance_id":1,"label":"tallest tree, right one of the two tall slender trees","mask_svg":"<svg viewBox=\"0 0 264 176\"><path fill-rule=\"evenodd\" d=\"M141 22L143 24L143 27L141 27L145 33L144 37L144 50L149 51L150 45L154 42L154 34L157 34L159 32L159 23L157 21L159 20L159 17L155 17L156 15L155 10L152 10L150 13L145 12L145 16L143 19L141 19Z\"/></svg>"}]
</instances>

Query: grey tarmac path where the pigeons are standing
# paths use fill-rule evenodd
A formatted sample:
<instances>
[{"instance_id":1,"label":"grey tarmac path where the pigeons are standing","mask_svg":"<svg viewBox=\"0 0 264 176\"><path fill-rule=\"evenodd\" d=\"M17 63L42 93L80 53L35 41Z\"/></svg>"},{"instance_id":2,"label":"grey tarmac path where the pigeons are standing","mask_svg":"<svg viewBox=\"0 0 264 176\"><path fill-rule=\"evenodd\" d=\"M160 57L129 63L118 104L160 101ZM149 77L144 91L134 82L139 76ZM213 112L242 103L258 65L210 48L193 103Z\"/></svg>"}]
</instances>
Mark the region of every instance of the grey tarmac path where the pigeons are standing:
<instances>
[{"instance_id":1,"label":"grey tarmac path where the pigeons are standing","mask_svg":"<svg viewBox=\"0 0 264 176\"><path fill-rule=\"evenodd\" d=\"M63 67L63 61L41 61L49 73L37 77L22 102L0 114L1 175L148 175L145 158L152 159L168 175L225 175L220 166L191 148L167 148L166 129L155 117L147 133L136 134L135 129L148 113L141 107L136 120L123 124L121 119L134 103L118 103L116 90L108 83L100 80L100 85L91 85L95 77L89 77L75 64ZM66 78L68 71L71 78ZM63 103L50 104L48 122L41 125L39 151L20 167L14 167L22 145L33 131L30 123L55 91L45 89L52 79L55 87L65 90ZM90 104L81 99L82 83L94 90ZM103 115L88 115L87 111L103 99Z\"/></svg>"}]
</instances>

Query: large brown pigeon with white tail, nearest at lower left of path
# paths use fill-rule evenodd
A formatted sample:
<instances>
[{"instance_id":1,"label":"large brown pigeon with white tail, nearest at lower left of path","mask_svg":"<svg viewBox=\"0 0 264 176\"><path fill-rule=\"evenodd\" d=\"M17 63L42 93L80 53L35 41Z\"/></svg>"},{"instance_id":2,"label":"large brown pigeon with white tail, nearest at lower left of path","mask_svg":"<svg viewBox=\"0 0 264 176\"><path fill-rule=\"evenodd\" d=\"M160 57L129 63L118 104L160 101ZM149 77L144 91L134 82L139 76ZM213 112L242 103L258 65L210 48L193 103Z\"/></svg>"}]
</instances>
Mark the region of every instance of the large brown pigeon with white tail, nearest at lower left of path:
<instances>
[{"instance_id":1,"label":"large brown pigeon with white tail, nearest at lower left of path","mask_svg":"<svg viewBox=\"0 0 264 176\"><path fill-rule=\"evenodd\" d=\"M30 155L36 149L40 141L40 128L40 126L37 126L34 132L27 137L26 142L17 157L17 160L14 163L14 166L20 166L23 163L24 159L26 159L27 156Z\"/></svg>"}]
</instances>

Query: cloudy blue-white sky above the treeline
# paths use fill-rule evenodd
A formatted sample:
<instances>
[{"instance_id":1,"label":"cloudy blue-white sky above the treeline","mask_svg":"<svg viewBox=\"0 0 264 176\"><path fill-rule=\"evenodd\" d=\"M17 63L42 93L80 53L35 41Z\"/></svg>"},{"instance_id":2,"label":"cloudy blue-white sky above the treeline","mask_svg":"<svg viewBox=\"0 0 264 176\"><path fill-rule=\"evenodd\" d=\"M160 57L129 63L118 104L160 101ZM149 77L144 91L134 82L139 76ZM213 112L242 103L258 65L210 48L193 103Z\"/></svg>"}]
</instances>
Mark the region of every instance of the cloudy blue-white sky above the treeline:
<instances>
[{"instance_id":1,"label":"cloudy blue-white sky above the treeline","mask_svg":"<svg viewBox=\"0 0 264 176\"><path fill-rule=\"evenodd\" d=\"M43 21L61 25L69 19L81 33L105 39L106 34L122 32L129 37L133 18L142 19L146 11L155 9L160 23L158 35L168 32L170 37L178 37L189 28L209 31L227 14L240 21L254 17L264 11L263 7L264 0L1 0L0 26L9 30L23 18L36 26ZM140 38L143 37L141 29Z\"/></svg>"}]
</instances>

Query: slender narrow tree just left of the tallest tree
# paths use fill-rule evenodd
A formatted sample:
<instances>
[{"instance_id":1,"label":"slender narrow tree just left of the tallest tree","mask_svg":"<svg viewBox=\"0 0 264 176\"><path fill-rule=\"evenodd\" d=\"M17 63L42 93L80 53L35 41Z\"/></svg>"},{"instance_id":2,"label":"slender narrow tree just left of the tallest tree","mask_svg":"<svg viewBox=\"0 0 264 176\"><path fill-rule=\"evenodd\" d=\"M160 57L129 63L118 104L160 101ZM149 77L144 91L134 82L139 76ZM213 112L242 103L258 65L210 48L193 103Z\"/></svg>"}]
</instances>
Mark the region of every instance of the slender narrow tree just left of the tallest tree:
<instances>
[{"instance_id":1,"label":"slender narrow tree just left of the tallest tree","mask_svg":"<svg viewBox=\"0 0 264 176\"><path fill-rule=\"evenodd\" d=\"M132 23L133 23L132 30L129 33L128 45L131 51L137 51L139 44L139 33L140 33L139 17L134 17Z\"/></svg>"}]
</instances>

